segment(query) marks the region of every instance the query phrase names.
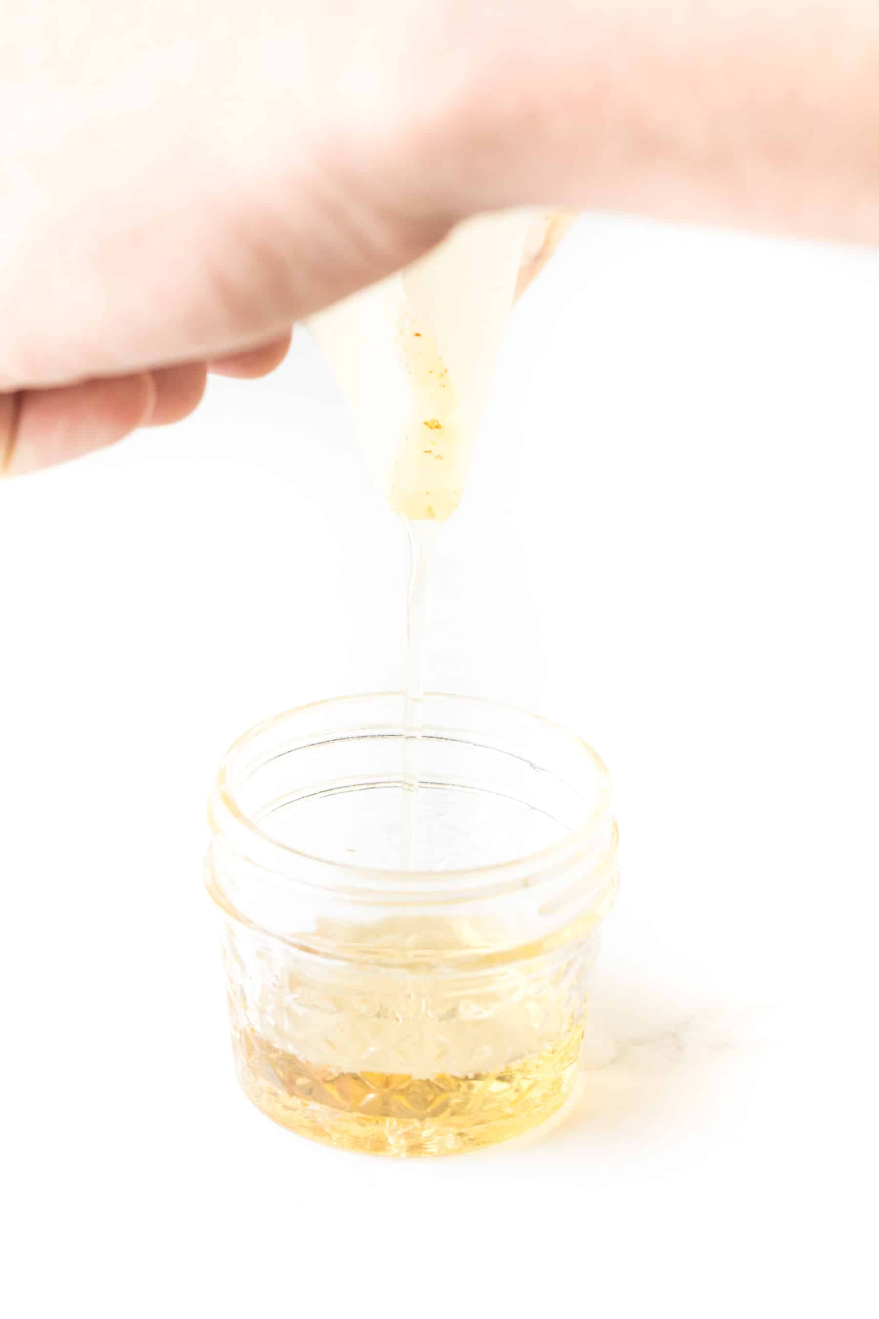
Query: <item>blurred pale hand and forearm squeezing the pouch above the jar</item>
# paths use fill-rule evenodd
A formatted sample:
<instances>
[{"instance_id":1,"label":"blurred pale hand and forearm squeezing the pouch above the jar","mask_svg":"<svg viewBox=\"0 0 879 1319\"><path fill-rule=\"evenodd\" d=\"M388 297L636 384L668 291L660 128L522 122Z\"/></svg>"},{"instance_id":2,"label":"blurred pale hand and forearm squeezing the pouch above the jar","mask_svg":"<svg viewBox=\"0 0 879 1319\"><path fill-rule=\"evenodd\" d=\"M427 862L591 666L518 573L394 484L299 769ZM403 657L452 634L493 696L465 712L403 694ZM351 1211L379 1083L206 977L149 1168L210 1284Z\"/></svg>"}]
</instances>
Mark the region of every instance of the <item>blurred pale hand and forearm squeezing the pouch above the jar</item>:
<instances>
[{"instance_id":1,"label":"blurred pale hand and forearm squeezing the pouch above the jar","mask_svg":"<svg viewBox=\"0 0 879 1319\"><path fill-rule=\"evenodd\" d=\"M7 471L271 369L476 211L879 241L875 0L672 8L4 0Z\"/></svg>"}]
</instances>

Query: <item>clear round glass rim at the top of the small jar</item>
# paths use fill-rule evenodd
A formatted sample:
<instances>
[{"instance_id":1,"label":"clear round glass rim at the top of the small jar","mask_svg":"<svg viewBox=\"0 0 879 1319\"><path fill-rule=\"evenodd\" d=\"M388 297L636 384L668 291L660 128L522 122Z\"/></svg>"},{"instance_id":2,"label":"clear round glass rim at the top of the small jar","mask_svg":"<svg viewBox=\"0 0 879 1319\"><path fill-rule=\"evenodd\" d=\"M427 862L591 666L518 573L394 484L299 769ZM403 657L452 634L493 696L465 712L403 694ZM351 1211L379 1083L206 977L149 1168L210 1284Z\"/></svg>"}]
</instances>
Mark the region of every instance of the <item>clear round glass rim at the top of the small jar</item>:
<instances>
[{"instance_id":1,"label":"clear round glass rim at the top of the small jar","mask_svg":"<svg viewBox=\"0 0 879 1319\"><path fill-rule=\"evenodd\" d=\"M385 900L391 896L402 897L407 892L412 894L419 893L424 897L428 894L436 897L438 890L440 889L447 898L453 896L460 897L461 889L469 889L470 885L476 886L473 888L472 894L468 893L468 896L484 896L486 892L497 893L498 885L501 888L506 886L503 884L506 877L515 884L521 880L523 872L534 873L546 869L555 871L556 863L569 864L572 856L584 848L586 840L602 822L613 827L613 820L610 818L610 773L601 756L598 756L594 748L590 747L582 737L565 728L563 724L546 719L543 715L535 715L531 711L522 710L505 702L493 700L486 696L469 696L456 692L436 691L426 692L424 700L455 702L460 704L478 706L494 710L498 714L528 720L530 723L539 724L548 732L563 737L569 747L573 747L577 751L577 753L585 756L593 772L597 774L597 790L594 802L584 819L569 828L561 838L535 852L522 853L514 857L507 857L502 861L492 861L482 865L449 868L443 871L401 871L391 867L365 867L362 864L357 864L356 861L344 861L312 852L304 852L266 832L257 820L241 809L233 786L233 766L236 757L245 749L245 747L253 744L260 736L270 732L273 728L282 725L286 720L291 720L302 715L326 710L340 710L345 706L353 706L357 703L362 704L365 702L391 699L402 702L403 694L395 691L372 691L343 696L329 696L281 711L277 715L271 715L269 719L261 720L252 728L248 728L232 743L220 760L215 787L211 793L208 805L208 820L211 827L215 832L219 832L221 816L225 815L227 822L233 822L236 832L241 839L249 838L252 844L256 845L256 848L258 848L262 853L262 857L271 857L274 863L277 863L269 865L269 868L275 873L290 873L287 867L290 863L294 863L297 867L307 867L315 874L319 872L324 877L327 874L337 876L343 884L347 881L352 889L357 889L360 893L362 893L364 885L372 886L372 884L378 884L381 885L381 893ZM260 865L265 867L265 860L261 859ZM295 874L290 874L290 877L295 878L297 882L307 882L307 877L299 869L297 869ZM489 888L486 889L485 885ZM323 884L320 886L323 888ZM339 881L333 882L333 888L339 889Z\"/></svg>"}]
</instances>

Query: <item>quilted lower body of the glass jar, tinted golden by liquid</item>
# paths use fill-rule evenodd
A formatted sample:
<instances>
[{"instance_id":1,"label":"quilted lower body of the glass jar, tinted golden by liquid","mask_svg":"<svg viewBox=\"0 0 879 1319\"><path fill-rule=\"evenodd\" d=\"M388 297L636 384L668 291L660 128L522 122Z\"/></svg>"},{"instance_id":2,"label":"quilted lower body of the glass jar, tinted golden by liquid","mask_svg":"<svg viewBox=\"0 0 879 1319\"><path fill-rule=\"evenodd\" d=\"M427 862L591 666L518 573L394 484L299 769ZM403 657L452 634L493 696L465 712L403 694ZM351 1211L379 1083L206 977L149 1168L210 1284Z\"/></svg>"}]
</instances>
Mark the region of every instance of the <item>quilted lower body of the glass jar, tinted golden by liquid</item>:
<instances>
[{"instance_id":1,"label":"quilted lower body of the glass jar, tinted golden by liquid","mask_svg":"<svg viewBox=\"0 0 879 1319\"><path fill-rule=\"evenodd\" d=\"M310 948L229 923L240 1084L274 1121L345 1149L517 1136L573 1089L600 917L501 954L478 919L320 922Z\"/></svg>"}]
</instances>

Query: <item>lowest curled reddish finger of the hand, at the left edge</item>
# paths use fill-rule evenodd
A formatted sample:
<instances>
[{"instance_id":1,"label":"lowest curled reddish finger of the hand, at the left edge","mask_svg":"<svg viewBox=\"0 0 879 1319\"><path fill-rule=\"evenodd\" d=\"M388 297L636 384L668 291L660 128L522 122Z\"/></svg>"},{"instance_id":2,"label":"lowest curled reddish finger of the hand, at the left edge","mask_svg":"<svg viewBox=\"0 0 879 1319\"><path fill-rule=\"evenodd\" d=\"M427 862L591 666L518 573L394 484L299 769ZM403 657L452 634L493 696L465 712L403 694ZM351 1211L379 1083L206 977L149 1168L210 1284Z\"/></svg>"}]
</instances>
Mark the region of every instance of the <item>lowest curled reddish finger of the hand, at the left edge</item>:
<instances>
[{"instance_id":1,"label":"lowest curled reddish finger of the hand, at the left edge","mask_svg":"<svg viewBox=\"0 0 879 1319\"><path fill-rule=\"evenodd\" d=\"M0 396L4 476L54 467L136 430L157 401L150 372Z\"/></svg>"}]
</instances>

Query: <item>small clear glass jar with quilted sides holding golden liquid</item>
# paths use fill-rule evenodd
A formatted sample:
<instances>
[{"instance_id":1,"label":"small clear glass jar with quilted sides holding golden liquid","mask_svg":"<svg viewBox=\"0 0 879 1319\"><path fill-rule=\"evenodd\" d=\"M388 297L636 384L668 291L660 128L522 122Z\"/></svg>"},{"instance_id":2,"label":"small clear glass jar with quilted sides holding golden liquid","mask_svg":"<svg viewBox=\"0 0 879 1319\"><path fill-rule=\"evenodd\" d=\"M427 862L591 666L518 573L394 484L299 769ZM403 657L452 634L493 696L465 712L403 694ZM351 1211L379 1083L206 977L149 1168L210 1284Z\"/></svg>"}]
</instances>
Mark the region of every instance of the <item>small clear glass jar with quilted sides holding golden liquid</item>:
<instances>
[{"instance_id":1,"label":"small clear glass jar with quilted sides holding golden liquid","mask_svg":"<svg viewBox=\"0 0 879 1319\"><path fill-rule=\"evenodd\" d=\"M571 1093L617 830L585 743L428 695L419 868L401 871L402 708L327 700L239 739L211 794L207 885L253 1103L347 1149L444 1154Z\"/></svg>"}]
</instances>

